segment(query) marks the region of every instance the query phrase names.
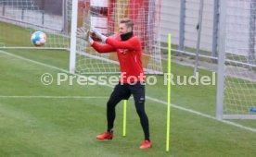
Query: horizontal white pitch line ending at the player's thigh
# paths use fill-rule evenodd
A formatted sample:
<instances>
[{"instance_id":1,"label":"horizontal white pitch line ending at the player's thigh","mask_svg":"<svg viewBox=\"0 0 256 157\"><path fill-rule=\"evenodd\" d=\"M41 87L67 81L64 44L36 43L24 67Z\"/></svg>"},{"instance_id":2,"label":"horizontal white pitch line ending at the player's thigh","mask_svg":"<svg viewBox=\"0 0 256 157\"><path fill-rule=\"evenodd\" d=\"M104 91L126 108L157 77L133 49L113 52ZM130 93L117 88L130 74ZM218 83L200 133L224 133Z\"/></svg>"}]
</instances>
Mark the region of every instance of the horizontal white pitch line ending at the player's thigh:
<instances>
[{"instance_id":1,"label":"horizontal white pitch line ending at the player's thigh","mask_svg":"<svg viewBox=\"0 0 256 157\"><path fill-rule=\"evenodd\" d=\"M48 95L0 95L0 98L18 98L18 99L107 99L102 96L48 96Z\"/></svg>"}]
</instances>

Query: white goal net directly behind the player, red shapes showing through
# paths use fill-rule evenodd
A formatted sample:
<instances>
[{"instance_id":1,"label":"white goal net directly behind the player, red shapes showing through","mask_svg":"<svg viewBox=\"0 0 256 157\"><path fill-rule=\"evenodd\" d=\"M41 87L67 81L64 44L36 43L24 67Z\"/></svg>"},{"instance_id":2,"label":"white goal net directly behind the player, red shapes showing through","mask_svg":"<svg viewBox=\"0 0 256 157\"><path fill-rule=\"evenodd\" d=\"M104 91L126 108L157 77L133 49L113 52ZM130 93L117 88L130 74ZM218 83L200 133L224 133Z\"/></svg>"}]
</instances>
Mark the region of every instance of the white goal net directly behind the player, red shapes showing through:
<instances>
[{"instance_id":1,"label":"white goal net directly behind the player, red shapes showing through","mask_svg":"<svg viewBox=\"0 0 256 157\"><path fill-rule=\"evenodd\" d=\"M160 0L79 0L77 13L78 28L94 27L106 36L118 32L122 18L134 20L134 35L142 41L145 72L162 74ZM76 39L75 44L75 49L71 49L71 53L75 54L73 61L70 61L71 71L80 74L120 73L116 52L98 54L81 39Z\"/></svg>"}]
</instances>

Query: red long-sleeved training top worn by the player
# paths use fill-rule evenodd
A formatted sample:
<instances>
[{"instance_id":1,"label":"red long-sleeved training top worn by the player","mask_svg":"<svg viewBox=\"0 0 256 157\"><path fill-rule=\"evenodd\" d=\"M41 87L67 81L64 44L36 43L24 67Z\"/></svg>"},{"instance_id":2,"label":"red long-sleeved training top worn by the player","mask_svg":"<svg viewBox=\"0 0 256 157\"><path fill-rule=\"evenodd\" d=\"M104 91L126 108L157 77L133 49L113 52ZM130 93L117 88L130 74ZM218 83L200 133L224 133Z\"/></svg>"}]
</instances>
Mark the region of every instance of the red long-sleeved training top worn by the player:
<instances>
[{"instance_id":1,"label":"red long-sleeved training top worn by the player","mask_svg":"<svg viewBox=\"0 0 256 157\"><path fill-rule=\"evenodd\" d=\"M141 62L142 46L140 40L133 36L127 41L122 41L119 34L107 38L107 44L94 42L92 46L98 53L117 52L120 62L122 83L132 83L145 80Z\"/></svg>"}]
</instances>

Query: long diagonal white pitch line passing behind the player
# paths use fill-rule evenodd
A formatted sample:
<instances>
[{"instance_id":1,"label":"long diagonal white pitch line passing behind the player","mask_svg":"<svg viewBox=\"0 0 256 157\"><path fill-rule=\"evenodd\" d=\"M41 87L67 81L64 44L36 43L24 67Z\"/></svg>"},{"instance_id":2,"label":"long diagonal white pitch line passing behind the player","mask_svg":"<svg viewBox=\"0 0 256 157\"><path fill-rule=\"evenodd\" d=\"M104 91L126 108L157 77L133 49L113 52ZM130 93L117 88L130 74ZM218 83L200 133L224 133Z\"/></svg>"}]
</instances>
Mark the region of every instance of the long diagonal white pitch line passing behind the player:
<instances>
[{"instance_id":1,"label":"long diagonal white pitch line passing behind the player","mask_svg":"<svg viewBox=\"0 0 256 157\"><path fill-rule=\"evenodd\" d=\"M1 51L1 50L0 50L0 53L6 54L6 55L10 55L10 56L13 56L13 57L16 57L16 58L19 58L21 60L29 61L29 62L32 62L32 63L37 64L37 65L41 65L41 66L46 66L46 67L50 67L50 68L53 68L53 69L57 69L59 71L62 71L62 72L70 74L70 72L68 70L59 68L57 66L50 66L50 65L47 65L45 63L34 61L32 59L28 59L28 58L25 58L25 57L22 57L22 56L19 56L19 55L16 55L16 54L10 54L10 53L7 53L7 52ZM82 76L82 75L79 75L79 74L72 74L72 75L79 76L79 77ZM92 80L92 81L96 81L95 79L91 79L91 78L87 78L87 79ZM110 88L113 88L113 86L111 86L109 84L105 84L104 86L108 86ZM152 101L152 102L161 103L161 104L165 104L165 105L167 104L167 102L161 101L159 99L156 99L156 98L153 98L153 97L150 97L150 96L147 96L147 99ZM206 117L206 118L210 118L212 120L216 120L216 121L222 122L222 123L230 125L230 126L239 127L239 128L242 128L242 129L245 129L245 130L249 130L251 132L255 132L256 133L256 128L245 127L245 126L239 125L239 124L237 124L235 122L231 122L231 121L228 121L228 120L217 119L214 116L202 114L202 113L200 113L198 111L195 111L195 110L192 110L192 109L188 109L188 108L185 108L185 107L173 104L173 103L172 103L171 106L173 108L176 108L176 109L179 109L179 110L182 110L182 111L186 111L186 112L191 113L191 114L200 115L200 116L203 116L203 117Z\"/></svg>"}]
</instances>

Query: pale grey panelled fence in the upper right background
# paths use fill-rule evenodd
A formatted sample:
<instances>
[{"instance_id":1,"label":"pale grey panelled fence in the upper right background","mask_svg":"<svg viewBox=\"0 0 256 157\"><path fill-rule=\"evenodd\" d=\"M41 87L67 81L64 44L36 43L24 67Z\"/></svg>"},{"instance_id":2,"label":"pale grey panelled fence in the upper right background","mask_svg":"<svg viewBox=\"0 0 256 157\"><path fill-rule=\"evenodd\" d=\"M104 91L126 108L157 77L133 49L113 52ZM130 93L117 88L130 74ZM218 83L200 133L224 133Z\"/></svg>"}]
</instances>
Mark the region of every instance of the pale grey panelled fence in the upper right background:
<instances>
[{"instance_id":1,"label":"pale grey panelled fence in the upper right background","mask_svg":"<svg viewBox=\"0 0 256 157\"><path fill-rule=\"evenodd\" d=\"M226 52L242 55L255 62L255 0L226 0L227 15L224 27L232 30L226 42ZM198 11L200 0L162 0L160 34L167 41L171 32L176 52L194 53L198 42ZM217 57L220 0L204 0L202 10L199 54ZM241 31L242 30L242 31ZM165 44L162 46L165 47ZM234 47L236 50L234 51ZM237 49L240 47L240 49Z\"/></svg>"}]
</instances>

